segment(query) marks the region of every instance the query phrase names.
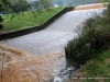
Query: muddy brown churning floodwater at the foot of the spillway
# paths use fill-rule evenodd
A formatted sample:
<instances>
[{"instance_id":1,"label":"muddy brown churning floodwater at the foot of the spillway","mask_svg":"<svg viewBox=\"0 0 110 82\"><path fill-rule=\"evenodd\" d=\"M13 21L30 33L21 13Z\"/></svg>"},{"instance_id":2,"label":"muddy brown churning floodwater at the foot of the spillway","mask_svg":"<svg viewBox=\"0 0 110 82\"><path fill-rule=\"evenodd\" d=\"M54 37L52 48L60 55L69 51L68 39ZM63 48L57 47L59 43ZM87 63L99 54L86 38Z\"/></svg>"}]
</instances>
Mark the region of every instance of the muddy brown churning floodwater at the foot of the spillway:
<instances>
[{"instance_id":1,"label":"muddy brown churning floodwater at the foot of the spillway","mask_svg":"<svg viewBox=\"0 0 110 82\"><path fill-rule=\"evenodd\" d=\"M0 45L0 82L48 82L51 78L59 74L65 63L63 52L33 57Z\"/></svg>"}]
</instances>

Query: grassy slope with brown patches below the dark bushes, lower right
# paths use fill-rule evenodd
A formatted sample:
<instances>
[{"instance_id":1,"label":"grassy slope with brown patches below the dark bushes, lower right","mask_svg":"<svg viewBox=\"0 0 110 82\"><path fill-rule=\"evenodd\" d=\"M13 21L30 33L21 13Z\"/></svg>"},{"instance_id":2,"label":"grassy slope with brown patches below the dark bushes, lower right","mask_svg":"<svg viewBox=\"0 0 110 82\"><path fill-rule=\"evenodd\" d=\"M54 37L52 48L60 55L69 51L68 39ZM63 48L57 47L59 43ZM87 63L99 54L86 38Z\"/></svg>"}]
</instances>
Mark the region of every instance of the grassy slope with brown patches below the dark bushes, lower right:
<instances>
[{"instance_id":1,"label":"grassy slope with brown patches below the dark bushes, lower right","mask_svg":"<svg viewBox=\"0 0 110 82\"><path fill-rule=\"evenodd\" d=\"M67 82L110 82L110 49L87 61Z\"/></svg>"}]
</instances>

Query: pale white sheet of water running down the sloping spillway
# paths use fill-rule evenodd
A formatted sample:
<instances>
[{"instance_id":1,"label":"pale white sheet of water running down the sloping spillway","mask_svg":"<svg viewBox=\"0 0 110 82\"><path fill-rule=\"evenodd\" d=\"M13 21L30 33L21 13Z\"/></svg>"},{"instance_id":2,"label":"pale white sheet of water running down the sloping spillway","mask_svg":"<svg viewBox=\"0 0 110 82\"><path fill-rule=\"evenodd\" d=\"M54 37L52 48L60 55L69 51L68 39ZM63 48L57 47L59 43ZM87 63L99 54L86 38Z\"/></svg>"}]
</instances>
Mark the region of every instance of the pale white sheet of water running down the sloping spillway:
<instances>
[{"instance_id":1,"label":"pale white sheet of water running down the sloping spillway","mask_svg":"<svg viewBox=\"0 0 110 82\"><path fill-rule=\"evenodd\" d=\"M1 40L0 44L25 50L33 55L58 52L64 50L67 42L77 35L75 32L77 26L95 12L99 13L100 11L95 9L67 12L43 31Z\"/></svg>"}]
</instances>

